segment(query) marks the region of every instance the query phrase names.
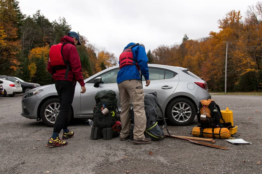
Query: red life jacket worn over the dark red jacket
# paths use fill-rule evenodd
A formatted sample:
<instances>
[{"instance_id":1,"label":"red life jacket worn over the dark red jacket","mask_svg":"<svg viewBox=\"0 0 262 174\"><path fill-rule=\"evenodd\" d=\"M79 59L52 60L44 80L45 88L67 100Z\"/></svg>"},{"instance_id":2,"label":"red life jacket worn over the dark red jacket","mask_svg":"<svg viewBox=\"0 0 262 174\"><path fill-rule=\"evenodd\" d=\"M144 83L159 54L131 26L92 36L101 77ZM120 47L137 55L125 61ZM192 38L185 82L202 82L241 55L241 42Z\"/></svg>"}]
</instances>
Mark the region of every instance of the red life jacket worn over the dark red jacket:
<instances>
[{"instance_id":1,"label":"red life jacket worn over the dark red jacket","mask_svg":"<svg viewBox=\"0 0 262 174\"><path fill-rule=\"evenodd\" d=\"M70 70L70 64L68 60L64 60L63 56L63 46L65 44L69 44L70 42L59 43L57 45L53 45L49 51L49 62L53 67L53 74L56 70L65 70L65 79L67 79L68 71Z\"/></svg>"}]
</instances>

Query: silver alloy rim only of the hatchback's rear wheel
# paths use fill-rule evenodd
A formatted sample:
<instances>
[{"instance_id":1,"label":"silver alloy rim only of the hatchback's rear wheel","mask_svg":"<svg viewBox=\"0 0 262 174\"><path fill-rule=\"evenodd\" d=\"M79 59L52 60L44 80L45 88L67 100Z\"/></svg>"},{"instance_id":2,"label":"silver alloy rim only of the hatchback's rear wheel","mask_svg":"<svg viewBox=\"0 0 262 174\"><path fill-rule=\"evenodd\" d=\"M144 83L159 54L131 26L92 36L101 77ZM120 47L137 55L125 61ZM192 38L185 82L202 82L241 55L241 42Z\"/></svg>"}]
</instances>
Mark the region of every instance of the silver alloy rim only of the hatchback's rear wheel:
<instances>
[{"instance_id":1,"label":"silver alloy rim only of the hatchback's rear wheel","mask_svg":"<svg viewBox=\"0 0 262 174\"><path fill-rule=\"evenodd\" d=\"M172 108L172 117L180 123L186 122L192 115L191 107L185 102L179 102Z\"/></svg>"}]
</instances>

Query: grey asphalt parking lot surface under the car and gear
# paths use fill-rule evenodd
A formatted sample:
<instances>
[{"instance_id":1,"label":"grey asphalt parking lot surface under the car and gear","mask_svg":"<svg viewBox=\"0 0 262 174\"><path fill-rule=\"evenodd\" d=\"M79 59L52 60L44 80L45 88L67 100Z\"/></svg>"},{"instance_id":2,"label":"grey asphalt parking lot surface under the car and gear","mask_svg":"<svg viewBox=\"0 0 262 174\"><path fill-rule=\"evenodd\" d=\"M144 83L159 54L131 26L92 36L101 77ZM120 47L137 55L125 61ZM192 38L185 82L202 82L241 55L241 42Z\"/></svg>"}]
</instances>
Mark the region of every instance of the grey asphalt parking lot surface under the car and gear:
<instances>
[{"instance_id":1,"label":"grey asphalt parking lot surface under the car and gear","mask_svg":"<svg viewBox=\"0 0 262 174\"><path fill-rule=\"evenodd\" d=\"M216 139L216 145L229 148L221 150L171 138L145 145L119 137L91 140L88 123L75 120L68 145L49 148L45 145L53 129L20 115L22 96L0 97L0 173L262 173L262 96L211 96L221 110L233 110L234 137L252 144ZM195 119L190 126L169 125L168 130L192 136L197 125Z\"/></svg>"}]
</instances>

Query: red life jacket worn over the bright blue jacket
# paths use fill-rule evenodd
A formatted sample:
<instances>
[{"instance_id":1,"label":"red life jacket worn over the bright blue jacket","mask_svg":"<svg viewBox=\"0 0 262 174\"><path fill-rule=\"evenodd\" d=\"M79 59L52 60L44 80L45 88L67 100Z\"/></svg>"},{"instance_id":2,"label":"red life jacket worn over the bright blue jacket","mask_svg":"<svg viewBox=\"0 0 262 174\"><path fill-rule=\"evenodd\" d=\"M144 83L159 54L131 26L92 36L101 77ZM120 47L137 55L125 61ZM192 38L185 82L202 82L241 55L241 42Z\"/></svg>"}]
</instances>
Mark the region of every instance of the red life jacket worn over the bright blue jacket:
<instances>
[{"instance_id":1,"label":"red life jacket worn over the bright blue jacket","mask_svg":"<svg viewBox=\"0 0 262 174\"><path fill-rule=\"evenodd\" d=\"M131 45L130 47L123 50L123 52L119 56L119 61L120 61L119 69L123 68L126 65L135 65L137 66L137 69L140 70L139 65L137 64L137 61L133 59L133 53L132 53L132 48L137 45L139 44Z\"/></svg>"}]
</instances>

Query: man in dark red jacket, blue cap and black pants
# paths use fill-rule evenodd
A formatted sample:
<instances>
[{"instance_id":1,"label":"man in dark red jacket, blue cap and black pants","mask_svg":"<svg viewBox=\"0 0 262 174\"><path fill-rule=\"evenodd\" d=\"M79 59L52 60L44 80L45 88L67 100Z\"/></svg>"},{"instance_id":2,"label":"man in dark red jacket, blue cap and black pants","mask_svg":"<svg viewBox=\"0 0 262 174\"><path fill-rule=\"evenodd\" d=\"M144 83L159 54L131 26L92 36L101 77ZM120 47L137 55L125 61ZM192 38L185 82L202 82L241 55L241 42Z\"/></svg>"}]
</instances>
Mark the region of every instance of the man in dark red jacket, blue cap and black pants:
<instances>
[{"instance_id":1,"label":"man in dark red jacket, blue cap and black pants","mask_svg":"<svg viewBox=\"0 0 262 174\"><path fill-rule=\"evenodd\" d=\"M54 124L52 137L49 139L47 146L57 147L67 145L66 141L59 138L59 133L63 129L62 139L68 139L74 136L73 131L69 131L68 115L70 114L71 104L75 94L76 81L81 85L81 93L86 92L80 58L76 49L81 45L79 35L70 31L67 36L61 38L61 42L53 45L49 52L49 61L47 70L52 74L55 81L56 91L60 101L60 112Z\"/></svg>"}]
</instances>

